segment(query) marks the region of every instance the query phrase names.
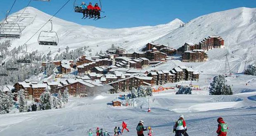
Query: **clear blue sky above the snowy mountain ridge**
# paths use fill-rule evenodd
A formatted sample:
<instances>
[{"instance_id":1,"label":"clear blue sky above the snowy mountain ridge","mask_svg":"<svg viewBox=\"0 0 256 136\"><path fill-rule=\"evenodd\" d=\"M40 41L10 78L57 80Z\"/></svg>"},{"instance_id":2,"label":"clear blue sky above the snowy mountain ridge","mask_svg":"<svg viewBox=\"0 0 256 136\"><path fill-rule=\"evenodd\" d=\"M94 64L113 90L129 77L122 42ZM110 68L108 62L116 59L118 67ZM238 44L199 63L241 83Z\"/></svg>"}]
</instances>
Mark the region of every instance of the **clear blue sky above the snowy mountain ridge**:
<instances>
[{"instance_id":1,"label":"clear blue sky above the snowy mountain ridge","mask_svg":"<svg viewBox=\"0 0 256 136\"><path fill-rule=\"evenodd\" d=\"M32 1L30 6L47 14L55 14L67 0L51 0L51 2ZM102 11L107 17L98 21L81 19L82 14L73 12L71 0L57 17L103 28L124 28L134 26L154 26L172 21L175 18L183 22L190 21L198 16L213 12L233 9L237 7L256 7L256 0L102 0ZM99 0L76 0L92 3ZM5 17L5 12L10 9L14 0L0 1L0 19ZM24 8L29 0L17 0L12 12ZM102 14L103 15L103 14Z\"/></svg>"}]
</instances>

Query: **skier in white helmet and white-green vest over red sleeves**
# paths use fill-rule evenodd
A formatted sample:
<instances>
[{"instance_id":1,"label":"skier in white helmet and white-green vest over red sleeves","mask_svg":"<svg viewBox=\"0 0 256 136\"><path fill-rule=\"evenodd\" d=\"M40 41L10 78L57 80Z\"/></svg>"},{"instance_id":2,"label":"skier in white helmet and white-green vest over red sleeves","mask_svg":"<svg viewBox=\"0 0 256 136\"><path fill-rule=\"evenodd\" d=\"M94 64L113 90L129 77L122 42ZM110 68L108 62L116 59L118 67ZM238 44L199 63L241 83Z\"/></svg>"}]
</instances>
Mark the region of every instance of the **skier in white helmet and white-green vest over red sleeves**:
<instances>
[{"instance_id":1,"label":"skier in white helmet and white-green vest over red sleeves","mask_svg":"<svg viewBox=\"0 0 256 136\"><path fill-rule=\"evenodd\" d=\"M187 126L186 126L186 122L184 120L184 115L180 115L179 120L175 124L175 128L177 130L177 133L176 133L177 136L181 136L181 134L183 134L184 136L188 136L188 134L186 132Z\"/></svg>"}]
</instances>

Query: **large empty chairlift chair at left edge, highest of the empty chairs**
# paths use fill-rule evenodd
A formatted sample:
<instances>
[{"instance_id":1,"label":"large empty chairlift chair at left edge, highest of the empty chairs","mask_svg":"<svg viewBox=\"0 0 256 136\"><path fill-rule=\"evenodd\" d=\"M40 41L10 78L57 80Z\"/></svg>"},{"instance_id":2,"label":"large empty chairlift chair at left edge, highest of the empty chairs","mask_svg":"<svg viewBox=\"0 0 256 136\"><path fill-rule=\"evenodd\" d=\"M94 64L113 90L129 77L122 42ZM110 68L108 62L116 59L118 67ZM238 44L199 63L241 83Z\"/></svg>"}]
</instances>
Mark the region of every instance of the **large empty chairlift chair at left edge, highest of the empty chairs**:
<instances>
[{"instance_id":1,"label":"large empty chairlift chair at left edge, highest of the empty chairs","mask_svg":"<svg viewBox=\"0 0 256 136\"><path fill-rule=\"evenodd\" d=\"M21 37L21 28L18 23L8 22L6 19L0 24L0 38L19 39Z\"/></svg>"}]
</instances>

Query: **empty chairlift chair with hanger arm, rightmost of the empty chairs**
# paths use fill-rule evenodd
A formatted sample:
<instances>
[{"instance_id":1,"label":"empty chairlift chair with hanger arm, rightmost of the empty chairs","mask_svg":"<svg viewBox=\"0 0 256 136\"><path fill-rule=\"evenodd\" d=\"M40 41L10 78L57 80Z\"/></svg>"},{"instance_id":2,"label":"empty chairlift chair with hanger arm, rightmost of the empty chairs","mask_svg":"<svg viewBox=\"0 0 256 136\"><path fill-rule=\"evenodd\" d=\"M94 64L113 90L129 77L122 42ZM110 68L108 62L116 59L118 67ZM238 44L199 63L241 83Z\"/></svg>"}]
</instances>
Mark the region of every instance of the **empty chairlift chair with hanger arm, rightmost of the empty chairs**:
<instances>
[{"instance_id":1,"label":"empty chairlift chair with hanger arm, rightmost of the empty chairs","mask_svg":"<svg viewBox=\"0 0 256 136\"><path fill-rule=\"evenodd\" d=\"M57 46L59 43L58 35L55 31L52 31L52 21L51 30L50 31L41 31L38 36L38 44L39 45L54 45Z\"/></svg>"}]
</instances>

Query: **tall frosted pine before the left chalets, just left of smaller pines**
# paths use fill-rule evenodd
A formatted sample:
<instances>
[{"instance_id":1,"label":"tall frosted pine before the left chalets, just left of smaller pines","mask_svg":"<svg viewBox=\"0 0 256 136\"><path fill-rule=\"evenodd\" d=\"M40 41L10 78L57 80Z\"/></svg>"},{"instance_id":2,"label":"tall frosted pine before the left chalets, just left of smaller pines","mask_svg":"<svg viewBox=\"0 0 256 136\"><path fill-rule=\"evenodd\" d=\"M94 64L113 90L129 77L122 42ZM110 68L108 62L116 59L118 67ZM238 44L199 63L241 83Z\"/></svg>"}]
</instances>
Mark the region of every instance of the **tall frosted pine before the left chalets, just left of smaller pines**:
<instances>
[{"instance_id":1,"label":"tall frosted pine before the left chalets, just left of smaller pines","mask_svg":"<svg viewBox=\"0 0 256 136\"><path fill-rule=\"evenodd\" d=\"M52 108L52 94L49 89L45 89L40 96L40 102L43 110L49 110Z\"/></svg>"}]
</instances>

